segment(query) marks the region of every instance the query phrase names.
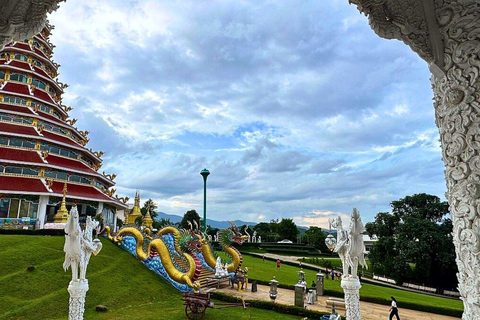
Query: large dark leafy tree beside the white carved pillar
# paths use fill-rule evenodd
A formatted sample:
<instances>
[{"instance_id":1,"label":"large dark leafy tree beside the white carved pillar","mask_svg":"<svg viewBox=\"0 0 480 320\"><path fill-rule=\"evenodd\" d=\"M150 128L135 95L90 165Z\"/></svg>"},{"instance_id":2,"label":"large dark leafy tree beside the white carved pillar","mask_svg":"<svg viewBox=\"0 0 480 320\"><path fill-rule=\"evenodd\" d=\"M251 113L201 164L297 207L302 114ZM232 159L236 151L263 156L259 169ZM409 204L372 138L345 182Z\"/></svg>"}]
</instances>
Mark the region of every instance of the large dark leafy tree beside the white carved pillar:
<instances>
[{"instance_id":1,"label":"large dark leafy tree beside the white carved pillar","mask_svg":"<svg viewBox=\"0 0 480 320\"><path fill-rule=\"evenodd\" d=\"M397 282L456 287L448 203L421 193L393 201L391 206L391 214L380 212L365 226L370 236L376 234L379 239L368 256L374 271Z\"/></svg>"}]
</instances>

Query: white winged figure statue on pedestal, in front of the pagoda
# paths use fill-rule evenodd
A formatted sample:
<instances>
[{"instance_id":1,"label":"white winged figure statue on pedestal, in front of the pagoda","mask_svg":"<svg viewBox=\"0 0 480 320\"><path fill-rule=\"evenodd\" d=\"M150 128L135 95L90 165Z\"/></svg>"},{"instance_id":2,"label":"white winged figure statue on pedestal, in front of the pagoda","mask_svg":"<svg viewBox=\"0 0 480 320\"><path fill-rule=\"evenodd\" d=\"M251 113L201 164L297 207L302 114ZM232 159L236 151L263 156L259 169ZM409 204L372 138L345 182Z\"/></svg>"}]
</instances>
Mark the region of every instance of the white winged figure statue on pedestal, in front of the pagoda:
<instances>
[{"instance_id":1,"label":"white winged figure statue on pedestal, in front of the pagoda","mask_svg":"<svg viewBox=\"0 0 480 320\"><path fill-rule=\"evenodd\" d=\"M102 249L98 239L92 239L92 232L98 228L99 222L87 217L85 230L80 229L78 223L78 210L73 206L65 225L65 262L63 269L72 269L72 281L68 285L70 305L69 320L82 320L85 311L85 296L88 291L88 280L85 278L87 265L92 253L97 255Z\"/></svg>"}]
</instances>

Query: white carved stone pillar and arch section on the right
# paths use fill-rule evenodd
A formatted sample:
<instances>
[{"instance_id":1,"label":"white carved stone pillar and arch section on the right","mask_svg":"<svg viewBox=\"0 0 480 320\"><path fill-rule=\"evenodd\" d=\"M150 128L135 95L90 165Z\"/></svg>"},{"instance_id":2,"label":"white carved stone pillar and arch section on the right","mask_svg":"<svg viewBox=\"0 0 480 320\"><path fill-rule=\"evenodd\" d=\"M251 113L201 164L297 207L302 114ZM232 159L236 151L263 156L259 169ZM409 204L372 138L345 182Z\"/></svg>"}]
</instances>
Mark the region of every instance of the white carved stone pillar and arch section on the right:
<instances>
[{"instance_id":1,"label":"white carved stone pillar and arch section on the right","mask_svg":"<svg viewBox=\"0 0 480 320\"><path fill-rule=\"evenodd\" d=\"M480 6L474 0L350 0L383 38L429 63L463 320L480 314ZM422 16L423 10L423 16ZM406 28L401 29L402 24ZM405 31L407 30L407 32ZM428 41L427 41L428 40Z\"/></svg>"}]
</instances>

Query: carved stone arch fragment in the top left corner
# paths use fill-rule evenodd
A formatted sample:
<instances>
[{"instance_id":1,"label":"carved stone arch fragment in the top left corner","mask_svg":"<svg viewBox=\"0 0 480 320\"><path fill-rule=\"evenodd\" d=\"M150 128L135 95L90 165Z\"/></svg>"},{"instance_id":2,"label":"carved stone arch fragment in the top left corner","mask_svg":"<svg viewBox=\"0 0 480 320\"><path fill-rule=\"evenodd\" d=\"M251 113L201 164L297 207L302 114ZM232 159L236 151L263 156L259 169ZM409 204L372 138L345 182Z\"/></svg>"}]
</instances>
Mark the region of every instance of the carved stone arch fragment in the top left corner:
<instances>
[{"instance_id":1,"label":"carved stone arch fragment in the top left corner","mask_svg":"<svg viewBox=\"0 0 480 320\"><path fill-rule=\"evenodd\" d=\"M33 38L47 25L47 13L65 0L0 0L0 50L8 42Z\"/></svg>"}]
</instances>

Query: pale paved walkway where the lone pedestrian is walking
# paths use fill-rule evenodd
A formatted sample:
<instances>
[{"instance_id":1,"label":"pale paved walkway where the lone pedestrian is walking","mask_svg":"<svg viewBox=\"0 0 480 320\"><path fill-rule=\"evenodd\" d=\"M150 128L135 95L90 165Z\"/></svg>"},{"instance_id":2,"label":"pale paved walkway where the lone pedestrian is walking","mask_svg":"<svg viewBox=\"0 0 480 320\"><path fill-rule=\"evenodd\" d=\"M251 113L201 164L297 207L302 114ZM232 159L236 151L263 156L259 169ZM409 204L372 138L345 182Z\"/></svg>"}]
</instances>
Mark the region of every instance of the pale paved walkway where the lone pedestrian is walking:
<instances>
[{"instance_id":1,"label":"pale paved walkway where the lone pedestrian is walking","mask_svg":"<svg viewBox=\"0 0 480 320\"><path fill-rule=\"evenodd\" d=\"M264 300L270 301L269 297L269 286L264 285L257 285L258 292L251 292L250 287L248 290L244 290L243 292L238 292L236 289L228 288L221 288L221 289L214 289L215 291L227 293L232 296L237 296L243 298L245 300ZM276 303L286 304L286 305L293 305L294 303L294 291L288 289L278 289L278 296L276 299ZM307 309L317 310L322 312L330 312L330 308L326 307L326 300L328 299L327 296L319 296L318 301L315 302L313 305L306 304ZM360 309L362 314L362 320L387 320L389 316L388 306L369 303L369 302L360 302ZM340 313L343 317L345 317L344 310L338 310L337 312ZM442 316L438 314L431 314L416 310L409 310L399 308L398 313L402 320L455 320L459 318Z\"/></svg>"}]
</instances>

